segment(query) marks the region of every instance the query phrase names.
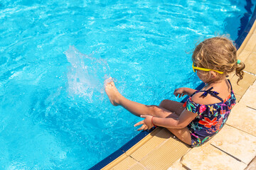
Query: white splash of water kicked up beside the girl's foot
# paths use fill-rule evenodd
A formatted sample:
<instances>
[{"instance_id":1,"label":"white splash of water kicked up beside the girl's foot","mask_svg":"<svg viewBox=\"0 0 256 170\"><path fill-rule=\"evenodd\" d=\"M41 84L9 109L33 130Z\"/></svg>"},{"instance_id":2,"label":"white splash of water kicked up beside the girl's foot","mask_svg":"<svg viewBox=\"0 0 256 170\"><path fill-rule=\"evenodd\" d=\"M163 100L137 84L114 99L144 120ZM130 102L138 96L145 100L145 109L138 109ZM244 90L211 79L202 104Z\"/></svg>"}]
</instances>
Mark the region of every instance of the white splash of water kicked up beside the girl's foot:
<instances>
[{"instance_id":1,"label":"white splash of water kicked up beside the girl's foot","mask_svg":"<svg viewBox=\"0 0 256 170\"><path fill-rule=\"evenodd\" d=\"M104 80L110 77L106 60L94 58L79 52L74 46L64 52L71 66L68 68L68 91L92 103L99 100L104 92Z\"/></svg>"}]
</instances>

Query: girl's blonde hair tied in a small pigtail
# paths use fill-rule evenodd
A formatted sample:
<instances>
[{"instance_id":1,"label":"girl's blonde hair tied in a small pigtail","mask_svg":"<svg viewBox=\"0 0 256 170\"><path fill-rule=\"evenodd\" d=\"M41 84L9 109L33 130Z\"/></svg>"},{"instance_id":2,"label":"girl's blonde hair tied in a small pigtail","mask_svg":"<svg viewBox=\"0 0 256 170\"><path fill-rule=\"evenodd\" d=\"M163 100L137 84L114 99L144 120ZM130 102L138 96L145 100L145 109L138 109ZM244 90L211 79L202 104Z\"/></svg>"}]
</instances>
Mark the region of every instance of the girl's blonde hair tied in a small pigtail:
<instances>
[{"instance_id":1,"label":"girl's blonde hair tied in a small pigtail","mask_svg":"<svg viewBox=\"0 0 256 170\"><path fill-rule=\"evenodd\" d=\"M238 82L242 79L245 69L245 64L238 64L237 50L231 41L226 36L208 38L200 42L193 51L192 60L196 67L207 69L215 69L223 74L218 74L218 79L227 77L228 74L235 71L239 77ZM207 72L206 74L210 74Z\"/></svg>"}]
</instances>

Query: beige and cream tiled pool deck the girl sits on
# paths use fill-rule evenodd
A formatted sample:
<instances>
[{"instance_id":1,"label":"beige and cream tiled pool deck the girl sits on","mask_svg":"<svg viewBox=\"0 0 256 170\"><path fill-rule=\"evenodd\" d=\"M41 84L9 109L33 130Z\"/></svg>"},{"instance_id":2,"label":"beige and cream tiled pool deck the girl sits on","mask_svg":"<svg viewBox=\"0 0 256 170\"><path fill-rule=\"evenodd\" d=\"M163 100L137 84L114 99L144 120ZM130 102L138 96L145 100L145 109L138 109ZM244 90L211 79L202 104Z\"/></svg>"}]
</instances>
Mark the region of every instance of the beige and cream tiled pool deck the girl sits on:
<instances>
[{"instance_id":1,"label":"beige and cream tiled pool deck the girl sits on","mask_svg":"<svg viewBox=\"0 0 256 170\"><path fill-rule=\"evenodd\" d=\"M256 21L238 50L245 75L230 75L238 103L210 141L191 149L165 128L156 128L103 169L256 169Z\"/></svg>"}]
</instances>

